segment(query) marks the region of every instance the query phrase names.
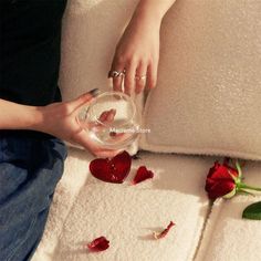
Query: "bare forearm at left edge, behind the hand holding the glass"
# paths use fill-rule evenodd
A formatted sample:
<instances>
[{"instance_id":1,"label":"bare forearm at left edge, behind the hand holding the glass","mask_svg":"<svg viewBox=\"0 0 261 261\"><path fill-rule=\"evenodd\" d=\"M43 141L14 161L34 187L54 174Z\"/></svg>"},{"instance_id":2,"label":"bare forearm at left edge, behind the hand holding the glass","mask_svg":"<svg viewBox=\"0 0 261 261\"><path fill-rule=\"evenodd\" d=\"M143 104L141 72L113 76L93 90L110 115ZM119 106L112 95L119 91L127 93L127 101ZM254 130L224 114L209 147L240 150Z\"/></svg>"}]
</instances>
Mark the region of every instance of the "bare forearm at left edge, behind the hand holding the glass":
<instances>
[{"instance_id":1,"label":"bare forearm at left edge, behind the hand holding the glass","mask_svg":"<svg viewBox=\"0 0 261 261\"><path fill-rule=\"evenodd\" d=\"M0 129L36 130L41 121L40 107L21 105L0 98Z\"/></svg>"}]
</instances>

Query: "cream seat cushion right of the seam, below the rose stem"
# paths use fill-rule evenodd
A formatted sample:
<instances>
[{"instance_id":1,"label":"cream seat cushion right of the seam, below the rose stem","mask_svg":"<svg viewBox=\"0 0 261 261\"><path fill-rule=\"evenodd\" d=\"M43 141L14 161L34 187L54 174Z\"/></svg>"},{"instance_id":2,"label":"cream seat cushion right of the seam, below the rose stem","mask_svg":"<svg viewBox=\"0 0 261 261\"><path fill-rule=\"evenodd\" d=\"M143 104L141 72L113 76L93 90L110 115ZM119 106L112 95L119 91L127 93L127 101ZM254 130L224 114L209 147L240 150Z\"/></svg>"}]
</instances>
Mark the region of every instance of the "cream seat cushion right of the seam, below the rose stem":
<instances>
[{"instance_id":1,"label":"cream seat cushion right of the seam, below the rose stem","mask_svg":"<svg viewBox=\"0 0 261 261\"><path fill-rule=\"evenodd\" d=\"M244 181L261 187L261 163L248 161ZM261 221L242 219L243 209L261 196L237 196L218 200L209 217L196 261L261 260Z\"/></svg>"}]
</instances>

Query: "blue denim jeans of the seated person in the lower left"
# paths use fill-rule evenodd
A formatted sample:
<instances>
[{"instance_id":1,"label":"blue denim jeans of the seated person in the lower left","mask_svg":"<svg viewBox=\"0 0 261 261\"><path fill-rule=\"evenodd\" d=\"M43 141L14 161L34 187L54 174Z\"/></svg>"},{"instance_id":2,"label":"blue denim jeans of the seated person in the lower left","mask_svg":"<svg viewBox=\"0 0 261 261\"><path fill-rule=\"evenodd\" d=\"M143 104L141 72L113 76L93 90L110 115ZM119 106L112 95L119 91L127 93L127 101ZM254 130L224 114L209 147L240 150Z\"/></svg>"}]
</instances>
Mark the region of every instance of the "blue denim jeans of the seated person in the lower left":
<instances>
[{"instance_id":1,"label":"blue denim jeans of the seated person in the lower left","mask_svg":"<svg viewBox=\"0 0 261 261\"><path fill-rule=\"evenodd\" d=\"M31 259L65 158L65 145L58 138L0 132L1 261Z\"/></svg>"}]
</instances>

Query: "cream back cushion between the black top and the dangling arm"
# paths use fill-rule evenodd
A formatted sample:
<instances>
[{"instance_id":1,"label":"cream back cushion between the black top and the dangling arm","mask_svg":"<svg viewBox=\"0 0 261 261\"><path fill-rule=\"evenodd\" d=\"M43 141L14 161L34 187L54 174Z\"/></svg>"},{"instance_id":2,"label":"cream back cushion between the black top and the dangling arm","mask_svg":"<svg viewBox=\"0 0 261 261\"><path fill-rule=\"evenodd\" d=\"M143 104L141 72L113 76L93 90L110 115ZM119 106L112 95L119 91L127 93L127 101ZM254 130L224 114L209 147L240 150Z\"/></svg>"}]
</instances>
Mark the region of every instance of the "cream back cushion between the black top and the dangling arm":
<instances>
[{"instance_id":1,"label":"cream back cushion between the black top and the dangling arm","mask_svg":"<svg viewBox=\"0 0 261 261\"><path fill-rule=\"evenodd\" d=\"M92 88L109 90L107 72L137 0L71 0L62 32L60 86L64 101ZM143 95L136 97L138 112ZM71 145L71 144L70 144ZM74 146L74 145L73 145ZM129 148L134 154L137 145Z\"/></svg>"}]
</instances>

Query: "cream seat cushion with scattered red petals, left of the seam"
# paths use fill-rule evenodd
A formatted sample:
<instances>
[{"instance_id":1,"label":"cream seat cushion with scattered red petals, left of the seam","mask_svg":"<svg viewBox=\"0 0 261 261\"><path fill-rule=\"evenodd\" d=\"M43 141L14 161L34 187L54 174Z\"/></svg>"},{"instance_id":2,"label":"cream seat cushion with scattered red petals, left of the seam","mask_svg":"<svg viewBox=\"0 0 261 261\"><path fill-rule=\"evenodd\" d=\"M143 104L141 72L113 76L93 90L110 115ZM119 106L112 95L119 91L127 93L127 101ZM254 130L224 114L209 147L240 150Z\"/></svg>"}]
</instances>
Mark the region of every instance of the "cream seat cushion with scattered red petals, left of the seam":
<instances>
[{"instance_id":1,"label":"cream seat cushion with scattered red petals, left of the seam","mask_svg":"<svg viewBox=\"0 0 261 261\"><path fill-rule=\"evenodd\" d=\"M142 153L122 185L88 173L91 157L70 149L58 185L44 237L33 261L192 260L208 212L203 185L213 158ZM135 169L146 165L155 178L129 186ZM152 231L176 226L161 240ZM88 253L83 244L106 236L111 248Z\"/></svg>"}]
</instances>

